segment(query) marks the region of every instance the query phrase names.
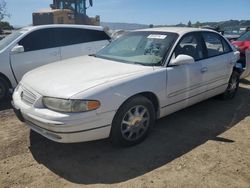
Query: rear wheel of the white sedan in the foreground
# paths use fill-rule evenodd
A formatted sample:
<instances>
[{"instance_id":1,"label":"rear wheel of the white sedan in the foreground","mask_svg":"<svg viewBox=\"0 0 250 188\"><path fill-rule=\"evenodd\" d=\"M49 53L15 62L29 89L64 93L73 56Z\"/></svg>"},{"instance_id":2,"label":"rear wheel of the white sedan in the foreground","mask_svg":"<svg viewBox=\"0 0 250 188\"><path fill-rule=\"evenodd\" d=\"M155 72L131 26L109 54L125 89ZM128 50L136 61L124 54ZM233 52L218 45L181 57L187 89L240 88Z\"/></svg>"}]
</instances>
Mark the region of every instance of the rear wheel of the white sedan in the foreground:
<instances>
[{"instance_id":1,"label":"rear wheel of the white sedan in the foreground","mask_svg":"<svg viewBox=\"0 0 250 188\"><path fill-rule=\"evenodd\" d=\"M239 89L239 84L240 84L240 73L238 73L237 71L233 71L228 83L228 87L226 91L221 95L221 98L223 100L233 99L237 94L237 91Z\"/></svg>"}]
</instances>

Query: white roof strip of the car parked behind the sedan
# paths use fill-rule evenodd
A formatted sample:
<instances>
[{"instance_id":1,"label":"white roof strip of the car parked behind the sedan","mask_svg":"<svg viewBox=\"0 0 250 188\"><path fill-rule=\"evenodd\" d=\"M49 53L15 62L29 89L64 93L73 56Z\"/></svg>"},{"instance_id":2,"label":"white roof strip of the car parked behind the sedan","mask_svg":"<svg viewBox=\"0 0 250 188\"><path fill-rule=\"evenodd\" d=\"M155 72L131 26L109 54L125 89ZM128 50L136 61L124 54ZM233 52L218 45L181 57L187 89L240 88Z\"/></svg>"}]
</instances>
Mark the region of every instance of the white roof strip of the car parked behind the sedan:
<instances>
[{"instance_id":1,"label":"white roof strip of the car parked behind the sedan","mask_svg":"<svg viewBox=\"0 0 250 188\"><path fill-rule=\"evenodd\" d=\"M97 31L104 30L103 27L101 26L74 25L74 24L50 24L50 25L27 26L27 27L23 27L21 30L32 31L32 30L48 29L48 28L79 28L79 29L89 29L89 30L97 30Z\"/></svg>"}]
</instances>

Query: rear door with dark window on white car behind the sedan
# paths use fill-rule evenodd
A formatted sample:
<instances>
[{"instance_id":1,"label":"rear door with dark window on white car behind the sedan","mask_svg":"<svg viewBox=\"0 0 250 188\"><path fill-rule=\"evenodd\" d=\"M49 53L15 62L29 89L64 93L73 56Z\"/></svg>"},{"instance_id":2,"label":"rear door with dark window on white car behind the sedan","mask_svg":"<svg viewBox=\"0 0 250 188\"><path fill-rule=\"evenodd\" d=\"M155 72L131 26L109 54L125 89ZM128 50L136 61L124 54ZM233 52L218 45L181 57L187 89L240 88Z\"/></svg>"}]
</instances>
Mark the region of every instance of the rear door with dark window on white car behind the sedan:
<instances>
[{"instance_id":1,"label":"rear door with dark window on white car behind the sedan","mask_svg":"<svg viewBox=\"0 0 250 188\"><path fill-rule=\"evenodd\" d=\"M79 28L60 28L62 59L94 54L109 43L104 31Z\"/></svg>"}]
</instances>

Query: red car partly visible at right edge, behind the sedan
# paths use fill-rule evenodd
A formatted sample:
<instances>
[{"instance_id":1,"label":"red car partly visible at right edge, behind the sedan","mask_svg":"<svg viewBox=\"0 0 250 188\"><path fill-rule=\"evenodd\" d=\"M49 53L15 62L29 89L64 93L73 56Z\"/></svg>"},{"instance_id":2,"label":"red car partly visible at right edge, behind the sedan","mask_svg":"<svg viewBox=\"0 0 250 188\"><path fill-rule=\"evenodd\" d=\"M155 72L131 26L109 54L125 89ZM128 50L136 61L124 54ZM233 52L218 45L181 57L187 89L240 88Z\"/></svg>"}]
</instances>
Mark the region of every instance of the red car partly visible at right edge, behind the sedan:
<instances>
[{"instance_id":1,"label":"red car partly visible at right edge, behind the sedan","mask_svg":"<svg viewBox=\"0 0 250 188\"><path fill-rule=\"evenodd\" d=\"M240 62L245 67L246 65L246 50L250 51L250 31L241 35L236 41L233 41L232 44L240 51Z\"/></svg>"}]
</instances>

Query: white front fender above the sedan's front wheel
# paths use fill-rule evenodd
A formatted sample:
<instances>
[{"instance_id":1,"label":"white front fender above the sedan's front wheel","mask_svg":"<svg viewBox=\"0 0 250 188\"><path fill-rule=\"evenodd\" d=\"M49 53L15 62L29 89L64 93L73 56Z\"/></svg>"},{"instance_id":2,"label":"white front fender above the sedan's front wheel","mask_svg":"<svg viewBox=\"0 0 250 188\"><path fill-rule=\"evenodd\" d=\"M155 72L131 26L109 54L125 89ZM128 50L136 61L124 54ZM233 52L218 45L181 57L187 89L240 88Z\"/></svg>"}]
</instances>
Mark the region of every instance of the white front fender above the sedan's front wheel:
<instances>
[{"instance_id":1,"label":"white front fender above the sedan's front wheel","mask_svg":"<svg viewBox=\"0 0 250 188\"><path fill-rule=\"evenodd\" d=\"M75 97L77 99L99 100L101 107L97 113L117 111L127 99L143 92L155 94L161 106L166 99L166 78L166 69L161 67L149 73L108 82Z\"/></svg>"}]
</instances>

